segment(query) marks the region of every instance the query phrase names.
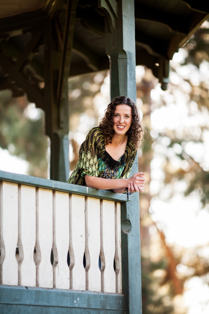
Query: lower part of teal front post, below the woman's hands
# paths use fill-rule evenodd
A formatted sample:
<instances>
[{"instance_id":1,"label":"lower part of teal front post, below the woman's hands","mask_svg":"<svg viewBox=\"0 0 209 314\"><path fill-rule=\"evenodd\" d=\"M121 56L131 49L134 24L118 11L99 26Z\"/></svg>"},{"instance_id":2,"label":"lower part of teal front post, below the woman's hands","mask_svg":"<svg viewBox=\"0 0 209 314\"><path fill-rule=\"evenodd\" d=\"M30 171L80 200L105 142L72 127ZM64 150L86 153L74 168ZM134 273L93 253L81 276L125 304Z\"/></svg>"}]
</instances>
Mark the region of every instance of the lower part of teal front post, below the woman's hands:
<instances>
[{"instance_id":1,"label":"lower part of teal front post, below the woman's hands","mask_svg":"<svg viewBox=\"0 0 209 314\"><path fill-rule=\"evenodd\" d=\"M130 195L129 199L130 202L121 204L122 292L125 295L125 313L141 314L142 286L138 193Z\"/></svg>"}]
</instances>

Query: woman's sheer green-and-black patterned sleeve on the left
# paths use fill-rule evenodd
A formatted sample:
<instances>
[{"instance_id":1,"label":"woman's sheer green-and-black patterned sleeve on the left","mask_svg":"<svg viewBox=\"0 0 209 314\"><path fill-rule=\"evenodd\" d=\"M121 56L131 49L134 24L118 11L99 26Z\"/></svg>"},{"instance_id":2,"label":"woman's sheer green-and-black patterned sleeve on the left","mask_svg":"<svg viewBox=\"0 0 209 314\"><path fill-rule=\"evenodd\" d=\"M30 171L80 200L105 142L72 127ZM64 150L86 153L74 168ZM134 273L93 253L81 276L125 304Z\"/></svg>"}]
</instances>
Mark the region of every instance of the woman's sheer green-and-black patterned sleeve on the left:
<instances>
[{"instance_id":1,"label":"woman's sheer green-and-black patterned sleeve on the left","mask_svg":"<svg viewBox=\"0 0 209 314\"><path fill-rule=\"evenodd\" d=\"M79 151L79 168L81 176L96 176L99 175L98 155L103 146L104 135L101 129L93 128L89 131L85 141L81 144Z\"/></svg>"}]
</instances>

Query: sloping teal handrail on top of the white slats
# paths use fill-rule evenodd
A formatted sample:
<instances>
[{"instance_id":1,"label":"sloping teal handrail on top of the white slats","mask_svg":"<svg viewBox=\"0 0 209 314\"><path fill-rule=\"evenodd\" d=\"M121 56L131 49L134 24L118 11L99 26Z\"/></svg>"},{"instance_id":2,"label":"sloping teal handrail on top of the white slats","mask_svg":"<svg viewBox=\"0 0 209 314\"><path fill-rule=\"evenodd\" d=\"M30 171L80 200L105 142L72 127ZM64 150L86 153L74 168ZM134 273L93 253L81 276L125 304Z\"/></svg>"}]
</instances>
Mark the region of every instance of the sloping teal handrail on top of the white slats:
<instances>
[{"instance_id":1,"label":"sloping teal handrail on top of the white slats","mask_svg":"<svg viewBox=\"0 0 209 314\"><path fill-rule=\"evenodd\" d=\"M70 194L78 194L99 199L106 199L114 202L123 203L127 201L126 194L114 193L111 191L97 190L92 187L83 187L80 185L69 184L65 182L48 180L33 176L25 176L12 172L0 170L0 181L8 181L11 183L29 185L31 187L40 187L53 191L67 192Z\"/></svg>"}]
</instances>

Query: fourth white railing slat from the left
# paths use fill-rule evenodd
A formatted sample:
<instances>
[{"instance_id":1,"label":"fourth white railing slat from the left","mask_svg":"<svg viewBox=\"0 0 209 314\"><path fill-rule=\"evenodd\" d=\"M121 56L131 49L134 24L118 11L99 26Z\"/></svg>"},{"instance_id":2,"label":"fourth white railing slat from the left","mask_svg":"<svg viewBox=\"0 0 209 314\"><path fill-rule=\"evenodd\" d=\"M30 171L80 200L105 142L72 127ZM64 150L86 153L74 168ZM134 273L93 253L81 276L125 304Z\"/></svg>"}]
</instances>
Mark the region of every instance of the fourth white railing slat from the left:
<instances>
[{"instance_id":1,"label":"fourth white railing slat from the left","mask_svg":"<svg viewBox=\"0 0 209 314\"><path fill-rule=\"evenodd\" d=\"M67 265L69 249L69 194L53 192L53 287L70 288Z\"/></svg>"}]
</instances>

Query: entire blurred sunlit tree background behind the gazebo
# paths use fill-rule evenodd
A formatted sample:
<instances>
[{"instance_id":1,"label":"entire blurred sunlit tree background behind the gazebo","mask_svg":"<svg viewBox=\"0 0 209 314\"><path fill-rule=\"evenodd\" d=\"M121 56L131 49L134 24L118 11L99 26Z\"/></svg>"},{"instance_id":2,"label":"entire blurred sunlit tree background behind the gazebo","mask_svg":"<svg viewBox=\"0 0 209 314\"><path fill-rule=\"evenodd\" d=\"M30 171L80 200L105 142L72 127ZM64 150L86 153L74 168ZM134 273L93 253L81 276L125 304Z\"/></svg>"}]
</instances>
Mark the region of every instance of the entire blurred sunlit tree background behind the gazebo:
<instances>
[{"instance_id":1,"label":"entire blurred sunlit tree background behind the gazebo","mask_svg":"<svg viewBox=\"0 0 209 314\"><path fill-rule=\"evenodd\" d=\"M142 313L209 313L209 22L170 62L162 91L136 67L137 107L147 129L138 151L146 172L140 195ZM69 79L69 153L109 103L109 71ZM26 97L0 92L0 170L47 178L44 113Z\"/></svg>"}]
</instances>

